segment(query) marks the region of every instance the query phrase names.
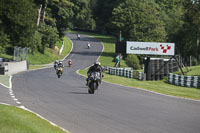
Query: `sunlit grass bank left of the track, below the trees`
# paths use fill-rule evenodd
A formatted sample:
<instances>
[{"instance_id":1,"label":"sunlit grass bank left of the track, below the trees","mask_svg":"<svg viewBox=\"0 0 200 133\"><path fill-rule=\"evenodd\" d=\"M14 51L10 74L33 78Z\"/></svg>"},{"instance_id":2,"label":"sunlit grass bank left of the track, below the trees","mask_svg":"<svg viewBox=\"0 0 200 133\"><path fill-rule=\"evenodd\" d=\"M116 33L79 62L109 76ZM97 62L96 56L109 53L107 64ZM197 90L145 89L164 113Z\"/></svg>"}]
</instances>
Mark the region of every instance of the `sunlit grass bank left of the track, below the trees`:
<instances>
[{"instance_id":1,"label":"sunlit grass bank left of the track, below the trees","mask_svg":"<svg viewBox=\"0 0 200 133\"><path fill-rule=\"evenodd\" d=\"M41 64L49 64L54 62L57 59L63 59L67 53L70 52L72 48L72 43L68 38L64 38L64 49L61 55L55 53L53 49L47 48L44 54L40 52L35 52L33 55L28 55L28 61L30 65L41 65ZM61 48L62 42L58 42L57 46Z\"/></svg>"}]
</instances>

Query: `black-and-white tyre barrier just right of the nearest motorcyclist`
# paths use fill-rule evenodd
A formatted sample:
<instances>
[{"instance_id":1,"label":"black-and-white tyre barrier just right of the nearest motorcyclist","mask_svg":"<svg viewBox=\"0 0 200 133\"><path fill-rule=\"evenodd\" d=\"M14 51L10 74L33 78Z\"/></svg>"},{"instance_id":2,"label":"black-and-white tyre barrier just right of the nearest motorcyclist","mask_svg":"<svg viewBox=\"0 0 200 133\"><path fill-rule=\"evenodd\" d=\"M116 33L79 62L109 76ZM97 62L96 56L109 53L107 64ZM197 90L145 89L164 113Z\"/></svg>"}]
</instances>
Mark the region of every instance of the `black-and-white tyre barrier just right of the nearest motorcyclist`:
<instances>
[{"instance_id":1,"label":"black-and-white tyre barrier just right of the nearest motorcyclist","mask_svg":"<svg viewBox=\"0 0 200 133\"><path fill-rule=\"evenodd\" d=\"M136 78L139 80L144 80L144 73L133 71L131 68L117 68L117 67L109 67L108 73L110 75L118 75L127 78Z\"/></svg>"}]
</instances>

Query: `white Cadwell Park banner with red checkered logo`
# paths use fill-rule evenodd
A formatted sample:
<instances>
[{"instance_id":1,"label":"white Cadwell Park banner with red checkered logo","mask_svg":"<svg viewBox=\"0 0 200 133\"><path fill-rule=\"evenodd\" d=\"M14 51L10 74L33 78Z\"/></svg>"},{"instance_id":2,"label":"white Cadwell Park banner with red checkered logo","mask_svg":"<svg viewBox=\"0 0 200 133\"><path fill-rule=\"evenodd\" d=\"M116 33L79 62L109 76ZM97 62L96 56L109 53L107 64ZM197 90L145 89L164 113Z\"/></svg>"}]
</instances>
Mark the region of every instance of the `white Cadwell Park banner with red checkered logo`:
<instances>
[{"instance_id":1,"label":"white Cadwell Park banner with red checkered logo","mask_svg":"<svg viewBox=\"0 0 200 133\"><path fill-rule=\"evenodd\" d=\"M130 42L127 41L127 54L147 54L147 55L174 55L174 43L155 42Z\"/></svg>"}]
</instances>

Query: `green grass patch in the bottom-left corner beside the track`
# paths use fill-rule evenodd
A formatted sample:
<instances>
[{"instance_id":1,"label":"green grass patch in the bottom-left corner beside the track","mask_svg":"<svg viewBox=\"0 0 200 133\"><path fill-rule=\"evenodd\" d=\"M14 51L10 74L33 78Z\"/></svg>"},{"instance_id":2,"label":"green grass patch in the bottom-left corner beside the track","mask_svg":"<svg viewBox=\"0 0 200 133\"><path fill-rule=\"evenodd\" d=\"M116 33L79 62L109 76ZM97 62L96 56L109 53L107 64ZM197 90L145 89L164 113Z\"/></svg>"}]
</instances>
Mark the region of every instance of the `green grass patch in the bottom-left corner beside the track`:
<instances>
[{"instance_id":1,"label":"green grass patch in the bottom-left corner beside the track","mask_svg":"<svg viewBox=\"0 0 200 133\"><path fill-rule=\"evenodd\" d=\"M35 114L23 109L0 105L0 133L65 133Z\"/></svg>"}]
</instances>

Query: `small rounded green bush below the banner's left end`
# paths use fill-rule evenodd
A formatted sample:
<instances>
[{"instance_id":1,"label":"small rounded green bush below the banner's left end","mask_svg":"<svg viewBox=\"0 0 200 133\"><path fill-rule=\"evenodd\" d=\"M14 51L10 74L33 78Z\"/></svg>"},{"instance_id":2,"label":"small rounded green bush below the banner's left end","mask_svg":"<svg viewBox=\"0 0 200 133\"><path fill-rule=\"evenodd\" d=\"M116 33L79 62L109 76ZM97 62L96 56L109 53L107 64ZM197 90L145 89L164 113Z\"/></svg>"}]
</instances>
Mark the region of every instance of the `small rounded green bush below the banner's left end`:
<instances>
[{"instance_id":1,"label":"small rounded green bush below the banner's left end","mask_svg":"<svg viewBox=\"0 0 200 133\"><path fill-rule=\"evenodd\" d=\"M134 54L128 55L126 57L126 64L135 70L140 68L140 61L139 61L138 57Z\"/></svg>"}]
</instances>

